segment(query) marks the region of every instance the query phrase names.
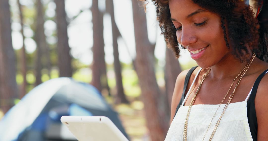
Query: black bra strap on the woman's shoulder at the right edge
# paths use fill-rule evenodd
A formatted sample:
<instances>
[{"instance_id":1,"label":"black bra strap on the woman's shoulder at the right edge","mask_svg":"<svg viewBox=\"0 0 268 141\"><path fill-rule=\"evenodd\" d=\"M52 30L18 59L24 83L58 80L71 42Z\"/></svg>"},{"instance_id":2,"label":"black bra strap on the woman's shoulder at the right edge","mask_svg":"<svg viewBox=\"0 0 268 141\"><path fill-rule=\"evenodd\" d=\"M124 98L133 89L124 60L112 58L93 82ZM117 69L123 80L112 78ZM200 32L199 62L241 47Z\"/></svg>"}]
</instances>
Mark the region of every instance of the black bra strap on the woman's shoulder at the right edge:
<instances>
[{"instance_id":1,"label":"black bra strap on the woman's shoulder at the right edge","mask_svg":"<svg viewBox=\"0 0 268 141\"><path fill-rule=\"evenodd\" d=\"M256 116L256 109L255 109L255 97L257 93L258 86L260 84L260 80L266 74L268 69L266 69L259 77L256 79L252 91L250 93L250 97L247 102L247 116L248 116L248 124L250 126L250 133L253 138L253 141L257 141L257 130L258 130L258 123L257 123L257 116Z\"/></svg>"}]
</instances>

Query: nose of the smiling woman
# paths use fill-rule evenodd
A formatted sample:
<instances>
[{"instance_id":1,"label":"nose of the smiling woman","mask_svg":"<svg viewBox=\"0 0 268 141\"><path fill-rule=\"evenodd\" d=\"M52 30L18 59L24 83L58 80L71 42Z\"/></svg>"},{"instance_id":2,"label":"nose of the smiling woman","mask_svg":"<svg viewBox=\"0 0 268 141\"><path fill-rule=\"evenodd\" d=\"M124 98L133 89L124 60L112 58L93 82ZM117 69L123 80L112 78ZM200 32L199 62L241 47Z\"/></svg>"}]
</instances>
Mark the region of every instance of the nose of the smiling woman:
<instances>
[{"instance_id":1,"label":"nose of the smiling woman","mask_svg":"<svg viewBox=\"0 0 268 141\"><path fill-rule=\"evenodd\" d=\"M195 36L194 31L189 28L181 30L181 36L179 39L180 40L178 40L178 42L182 46L187 46L197 41L197 37Z\"/></svg>"}]
</instances>

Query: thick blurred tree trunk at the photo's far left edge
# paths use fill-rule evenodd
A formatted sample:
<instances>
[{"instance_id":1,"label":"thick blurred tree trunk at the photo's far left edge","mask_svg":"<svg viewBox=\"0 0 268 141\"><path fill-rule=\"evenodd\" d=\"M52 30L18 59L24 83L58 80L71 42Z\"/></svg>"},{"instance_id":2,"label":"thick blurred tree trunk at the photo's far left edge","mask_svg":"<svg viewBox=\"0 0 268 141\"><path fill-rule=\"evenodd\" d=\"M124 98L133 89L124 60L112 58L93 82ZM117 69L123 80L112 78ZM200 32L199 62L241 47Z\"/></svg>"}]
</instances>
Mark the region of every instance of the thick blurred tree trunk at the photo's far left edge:
<instances>
[{"instance_id":1,"label":"thick blurred tree trunk at the photo's far left edge","mask_svg":"<svg viewBox=\"0 0 268 141\"><path fill-rule=\"evenodd\" d=\"M0 104L6 113L18 97L15 53L12 46L9 1L0 1Z\"/></svg>"}]
</instances>

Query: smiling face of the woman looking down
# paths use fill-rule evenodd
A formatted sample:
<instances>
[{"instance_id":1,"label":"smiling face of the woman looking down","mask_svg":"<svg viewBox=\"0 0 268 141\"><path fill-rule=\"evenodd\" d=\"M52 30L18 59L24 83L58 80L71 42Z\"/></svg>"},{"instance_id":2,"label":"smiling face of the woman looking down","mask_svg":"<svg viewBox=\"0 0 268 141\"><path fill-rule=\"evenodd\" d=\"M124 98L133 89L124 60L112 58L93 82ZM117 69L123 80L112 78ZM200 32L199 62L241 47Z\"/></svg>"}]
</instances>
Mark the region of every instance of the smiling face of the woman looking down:
<instances>
[{"instance_id":1,"label":"smiling face of the woman looking down","mask_svg":"<svg viewBox=\"0 0 268 141\"><path fill-rule=\"evenodd\" d=\"M219 15L191 0L170 0L169 8L179 44L190 52L200 67L217 64L229 52Z\"/></svg>"}]
</instances>

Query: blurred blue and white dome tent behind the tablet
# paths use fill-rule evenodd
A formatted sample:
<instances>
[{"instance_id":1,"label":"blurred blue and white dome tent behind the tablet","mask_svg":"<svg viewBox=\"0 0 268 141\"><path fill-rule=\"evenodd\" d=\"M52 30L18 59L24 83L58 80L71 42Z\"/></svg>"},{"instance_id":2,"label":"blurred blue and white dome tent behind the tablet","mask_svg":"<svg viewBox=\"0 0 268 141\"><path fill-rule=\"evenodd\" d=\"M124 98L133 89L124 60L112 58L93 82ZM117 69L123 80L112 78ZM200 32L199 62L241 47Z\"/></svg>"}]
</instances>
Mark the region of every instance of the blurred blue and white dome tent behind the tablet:
<instances>
[{"instance_id":1,"label":"blurred blue and white dome tent behind the tablet","mask_svg":"<svg viewBox=\"0 0 268 141\"><path fill-rule=\"evenodd\" d=\"M76 140L61 124L63 115L107 116L127 137L117 113L95 87L61 77L38 85L5 114L0 140Z\"/></svg>"}]
</instances>

